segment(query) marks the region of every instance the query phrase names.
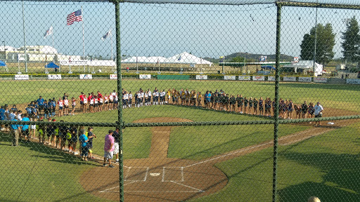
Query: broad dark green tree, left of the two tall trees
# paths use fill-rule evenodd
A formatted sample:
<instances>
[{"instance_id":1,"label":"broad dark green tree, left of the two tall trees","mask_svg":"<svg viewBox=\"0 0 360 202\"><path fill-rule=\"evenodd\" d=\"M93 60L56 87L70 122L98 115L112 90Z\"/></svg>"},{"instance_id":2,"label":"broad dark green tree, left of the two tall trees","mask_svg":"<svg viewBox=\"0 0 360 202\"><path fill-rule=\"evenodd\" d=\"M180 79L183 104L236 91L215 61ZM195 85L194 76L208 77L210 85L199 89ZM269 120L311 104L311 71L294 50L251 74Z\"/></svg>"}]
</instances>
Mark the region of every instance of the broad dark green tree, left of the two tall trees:
<instances>
[{"instance_id":1,"label":"broad dark green tree, left of the two tall trees","mask_svg":"<svg viewBox=\"0 0 360 202\"><path fill-rule=\"evenodd\" d=\"M315 27L310 29L310 34L304 34L304 39L300 45L302 60L314 60L315 50ZM321 24L316 28L316 55L315 62L325 65L334 58L335 53L333 48L335 46L335 34L330 23L325 27Z\"/></svg>"}]
</instances>

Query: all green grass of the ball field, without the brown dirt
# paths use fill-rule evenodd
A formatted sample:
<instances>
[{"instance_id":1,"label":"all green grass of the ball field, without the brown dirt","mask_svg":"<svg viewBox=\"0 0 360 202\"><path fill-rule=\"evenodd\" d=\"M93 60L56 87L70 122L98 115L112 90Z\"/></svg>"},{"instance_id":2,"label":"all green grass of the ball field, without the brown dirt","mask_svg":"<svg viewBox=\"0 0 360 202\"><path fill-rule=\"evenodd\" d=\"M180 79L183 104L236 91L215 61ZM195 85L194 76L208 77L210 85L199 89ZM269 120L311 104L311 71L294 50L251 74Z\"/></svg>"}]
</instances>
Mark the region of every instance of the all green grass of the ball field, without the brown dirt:
<instances>
[{"instance_id":1,"label":"all green grass of the ball field, without the brown dirt","mask_svg":"<svg viewBox=\"0 0 360 202\"><path fill-rule=\"evenodd\" d=\"M223 89L231 94L243 93L252 97L274 97L274 83L243 81L158 81L123 80L127 90L139 88L153 90L168 88L189 88L201 90ZM116 89L116 82L103 81L3 81L0 82L1 103L19 104L37 99L58 97L68 93L70 97L100 90L103 94ZM281 83L284 99L296 102L321 101L324 107L349 109L360 112L359 88L354 85L327 85L314 83ZM2 105L2 104L1 104ZM150 117L179 117L192 121L253 121L258 116L214 112L196 107L172 105L148 106L124 109L123 120L131 123ZM77 114L56 117L57 121L105 122L117 121L117 111ZM288 135L305 130L307 126L281 125L279 135ZM354 170L359 170L359 124L334 130L295 145L280 147L278 164L279 201L306 201L308 196L317 195L326 201L359 201L359 186L352 179L359 179ZM94 153L103 155L103 140L110 128L94 128L98 136L94 139ZM113 128L111 128L113 129ZM169 142L170 158L205 159L224 152L240 149L252 144L272 140L274 126L193 126L172 128ZM147 158L151 143L151 128L124 129L124 159ZM335 144L336 143L336 144ZM1 179L0 201L98 201L86 194L77 182L84 170L94 168L94 163L84 163L70 154L63 154L39 144L22 144L9 147L8 137L0 137ZM272 187L272 148L240 156L219 163L226 173L229 184L216 194L195 199L195 201L270 201ZM345 165L345 166L342 166ZM69 173L70 172L70 173ZM308 173L310 173L308 175ZM31 175L30 175L31 174ZM344 177L342 177L344 176ZM29 178L27 178L29 177ZM39 180L37 180L39 179ZM28 180L28 181L27 181ZM29 182L30 184L25 184ZM38 182L41 182L39 184ZM44 183L45 182L45 183ZM352 182L352 183L350 183ZM31 184L32 183L32 184ZM25 184L25 186L24 186ZM347 185L349 184L349 185ZM27 185L27 186L26 186ZM323 193L336 193L338 198ZM334 192L332 192L334 191ZM51 196L48 194L51 193ZM302 196L302 198L299 198ZM17 197L17 198L16 198ZM93 197L93 198L92 198ZM45 199L44 199L45 198ZM51 198L51 199L50 199ZM337 200L335 200L335 198ZM340 199L339 199L340 198Z\"/></svg>"}]
</instances>

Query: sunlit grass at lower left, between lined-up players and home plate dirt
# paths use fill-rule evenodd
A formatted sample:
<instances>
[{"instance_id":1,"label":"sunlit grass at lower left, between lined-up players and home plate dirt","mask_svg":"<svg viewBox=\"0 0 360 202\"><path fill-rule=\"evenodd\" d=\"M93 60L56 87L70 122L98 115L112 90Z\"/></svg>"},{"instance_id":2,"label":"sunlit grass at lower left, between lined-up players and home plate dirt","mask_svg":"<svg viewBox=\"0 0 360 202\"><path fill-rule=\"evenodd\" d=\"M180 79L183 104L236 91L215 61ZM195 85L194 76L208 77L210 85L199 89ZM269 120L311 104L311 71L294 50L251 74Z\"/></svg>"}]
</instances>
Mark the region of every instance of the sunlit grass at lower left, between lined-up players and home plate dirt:
<instances>
[{"instance_id":1,"label":"sunlit grass at lower left, between lined-up players and home plate dirt","mask_svg":"<svg viewBox=\"0 0 360 202\"><path fill-rule=\"evenodd\" d=\"M11 147L4 133L0 145L0 201L107 201L79 184L96 163L32 142Z\"/></svg>"}]
</instances>

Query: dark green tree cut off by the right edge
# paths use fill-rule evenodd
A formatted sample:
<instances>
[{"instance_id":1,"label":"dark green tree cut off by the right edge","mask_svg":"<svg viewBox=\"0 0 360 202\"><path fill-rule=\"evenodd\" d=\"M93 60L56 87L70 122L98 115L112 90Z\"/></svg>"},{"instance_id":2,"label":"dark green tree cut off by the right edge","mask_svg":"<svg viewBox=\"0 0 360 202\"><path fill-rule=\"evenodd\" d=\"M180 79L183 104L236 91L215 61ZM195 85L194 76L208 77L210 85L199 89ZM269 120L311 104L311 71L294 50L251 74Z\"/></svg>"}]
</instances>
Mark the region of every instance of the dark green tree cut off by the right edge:
<instances>
[{"instance_id":1,"label":"dark green tree cut off by the right edge","mask_svg":"<svg viewBox=\"0 0 360 202\"><path fill-rule=\"evenodd\" d=\"M347 21L346 31L342 32L341 39L344 41L341 43L341 47L343 49L341 52L344 59L349 62L359 61L359 31L359 24L354 16Z\"/></svg>"}]
</instances>

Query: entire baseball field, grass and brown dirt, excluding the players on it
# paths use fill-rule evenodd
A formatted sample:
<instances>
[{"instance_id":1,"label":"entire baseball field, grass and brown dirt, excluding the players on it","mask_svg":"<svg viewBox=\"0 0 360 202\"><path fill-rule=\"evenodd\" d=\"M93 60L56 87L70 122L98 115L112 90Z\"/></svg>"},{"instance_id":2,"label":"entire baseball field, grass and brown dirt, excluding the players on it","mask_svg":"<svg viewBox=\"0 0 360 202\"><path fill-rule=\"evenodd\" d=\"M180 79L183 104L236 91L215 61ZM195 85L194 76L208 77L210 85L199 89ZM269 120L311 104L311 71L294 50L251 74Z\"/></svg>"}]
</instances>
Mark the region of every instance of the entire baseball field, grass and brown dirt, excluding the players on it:
<instances>
[{"instance_id":1,"label":"entire baseball field, grass and brown dirt, excluding the players on it","mask_svg":"<svg viewBox=\"0 0 360 202\"><path fill-rule=\"evenodd\" d=\"M78 97L110 93L116 81L2 81L1 105L19 109L39 95ZM321 102L324 116L359 114L359 88L352 85L281 83L280 97ZM133 93L168 90L224 90L244 97L274 97L274 83L250 81L122 80ZM24 111L24 110L23 110ZM264 116L203 107L151 105L123 110L125 123L257 121ZM117 121L117 110L56 117L56 121ZM278 128L278 201L359 201L359 120L283 124ZM0 201L118 201L119 170L103 168L103 141L109 129L95 127L96 159L48 145L20 142L10 147L0 133ZM271 201L274 125L164 126L124 128L125 201ZM115 160L115 159L114 159Z\"/></svg>"}]
</instances>

